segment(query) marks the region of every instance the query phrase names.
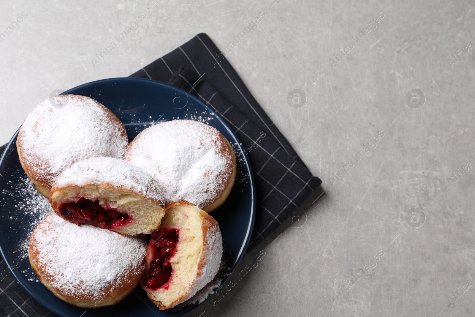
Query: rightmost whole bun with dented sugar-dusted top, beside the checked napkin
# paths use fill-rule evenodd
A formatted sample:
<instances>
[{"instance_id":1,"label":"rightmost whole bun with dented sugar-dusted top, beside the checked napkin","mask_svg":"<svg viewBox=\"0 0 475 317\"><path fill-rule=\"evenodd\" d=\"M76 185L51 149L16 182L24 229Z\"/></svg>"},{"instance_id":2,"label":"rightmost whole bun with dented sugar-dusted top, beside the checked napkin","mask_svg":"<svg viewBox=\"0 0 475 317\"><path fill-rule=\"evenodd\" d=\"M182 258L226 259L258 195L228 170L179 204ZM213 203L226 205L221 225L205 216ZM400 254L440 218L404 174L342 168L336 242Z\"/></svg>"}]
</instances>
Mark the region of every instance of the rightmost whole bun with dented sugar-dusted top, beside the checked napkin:
<instances>
[{"instance_id":1,"label":"rightmost whole bun with dented sugar-dusted top, beside the checked napkin","mask_svg":"<svg viewBox=\"0 0 475 317\"><path fill-rule=\"evenodd\" d=\"M165 203L186 200L206 212L218 208L236 177L236 156L228 140L209 125L174 120L143 130L124 160L159 183Z\"/></svg>"}]
</instances>

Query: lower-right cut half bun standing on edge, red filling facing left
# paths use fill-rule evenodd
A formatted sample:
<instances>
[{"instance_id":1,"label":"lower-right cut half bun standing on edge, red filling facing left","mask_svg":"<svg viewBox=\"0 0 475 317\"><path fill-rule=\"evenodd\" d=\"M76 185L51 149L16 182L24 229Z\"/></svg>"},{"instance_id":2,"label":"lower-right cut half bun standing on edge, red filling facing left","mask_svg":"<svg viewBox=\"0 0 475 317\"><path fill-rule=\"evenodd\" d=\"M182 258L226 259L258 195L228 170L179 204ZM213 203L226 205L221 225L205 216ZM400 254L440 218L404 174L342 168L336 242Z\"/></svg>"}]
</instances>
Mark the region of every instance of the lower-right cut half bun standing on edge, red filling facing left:
<instances>
[{"instance_id":1,"label":"lower-right cut half bun standing on edge, red filling facing left","mask_svg":"<svg viewBox=\"0 0 475 317\"><path fill-rule=\"evenodd\" d=\"M218 273L222 238L218 222L186 202L165 207L161 228L147 247L142 288L160 309L191 298Z\"/></svg>"}]
</instances>

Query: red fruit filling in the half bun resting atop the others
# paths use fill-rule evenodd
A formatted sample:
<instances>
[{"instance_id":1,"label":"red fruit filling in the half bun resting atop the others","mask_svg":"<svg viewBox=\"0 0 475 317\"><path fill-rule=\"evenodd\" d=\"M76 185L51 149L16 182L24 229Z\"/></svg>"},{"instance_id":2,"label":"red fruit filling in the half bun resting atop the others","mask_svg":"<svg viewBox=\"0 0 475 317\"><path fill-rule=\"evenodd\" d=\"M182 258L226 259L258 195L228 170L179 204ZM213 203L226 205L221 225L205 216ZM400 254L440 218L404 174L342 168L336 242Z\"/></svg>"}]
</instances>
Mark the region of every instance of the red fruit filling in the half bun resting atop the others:
<instances>
[{"instance_id":1,"label":"red fruit filling in the half bun resting atop the others","mask_svg":"<svg viewBox=\"0 0 475 317\"><path fill-rule=\"evenodd\" d=\"M127 213L105 209L97 200L81 199L62 203L58 210L63 218L77 225L90 224L102 229L114 229L133 222Z\"/></svg>"}]
</instances>

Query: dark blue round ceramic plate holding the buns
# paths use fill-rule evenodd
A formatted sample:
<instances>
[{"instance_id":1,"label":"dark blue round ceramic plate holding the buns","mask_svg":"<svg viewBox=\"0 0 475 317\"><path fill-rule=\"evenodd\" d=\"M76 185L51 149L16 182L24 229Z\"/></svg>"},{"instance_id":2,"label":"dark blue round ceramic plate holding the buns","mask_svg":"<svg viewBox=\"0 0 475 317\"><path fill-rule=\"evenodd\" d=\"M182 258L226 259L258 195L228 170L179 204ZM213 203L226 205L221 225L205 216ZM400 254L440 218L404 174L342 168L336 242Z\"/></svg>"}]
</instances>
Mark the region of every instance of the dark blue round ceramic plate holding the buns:
<instances>
[{"instance_id":1,"label":"dark blue round ceramic plate holding the buns","mask_svg":"<svg viewBox=\"0 0 475 317\"><path fill-rule=\"evenodd\" d=\"M141 78L111 78L69 89L64 94L89 96L114 112L124 123L129 141L153 124L175 119L205 122L217 128L233 145L237 157L236 183L226 202L211 215L223 235L225 266L229 268L224 284L244 255L256 213L256 189L251 166L236 134L213 109L177 87ZM111 307L85 309L56 298L34 275L28 257L31 230L47 209L19 163L16 150L18 131L0 158L0 251L20 286L38 303L64 317L90 316L181 316L198 304L179 309L159 310L146 293L136 288L122 302ZM84 313L84 315L82 315Z\"/></svg>"}]
</instances>

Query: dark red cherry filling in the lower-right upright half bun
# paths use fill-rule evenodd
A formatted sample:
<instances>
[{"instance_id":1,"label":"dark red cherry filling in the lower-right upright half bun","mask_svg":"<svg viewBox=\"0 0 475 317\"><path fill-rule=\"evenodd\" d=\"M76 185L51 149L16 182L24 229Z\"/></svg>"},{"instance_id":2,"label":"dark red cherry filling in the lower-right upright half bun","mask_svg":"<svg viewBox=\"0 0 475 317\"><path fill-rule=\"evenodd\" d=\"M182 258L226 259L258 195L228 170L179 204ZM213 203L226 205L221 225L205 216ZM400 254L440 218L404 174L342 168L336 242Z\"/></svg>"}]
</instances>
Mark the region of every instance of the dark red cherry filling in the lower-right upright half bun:
<instances>
[{"instance_id":1,"label":"dark red cherry filling in the lower-right upright half bun","mask_svg":"<svg viewBox=\"0 0 475 317\"><path fill-rule=\"evenodd\" d=\"M168 281L171 277L170 259L175 254L177 242L178 232L174 229L160 230L152 235L147 251L147 258L152 257L152 261L149 262L150 268L143 281L146 288L154 290L163 287L168 289Z\"/></svg>"}]
</instances>

